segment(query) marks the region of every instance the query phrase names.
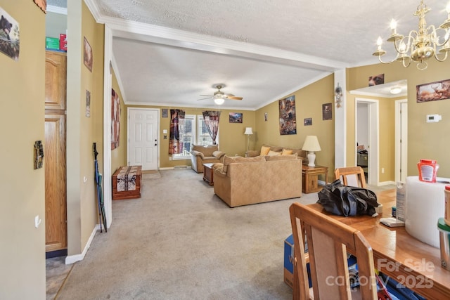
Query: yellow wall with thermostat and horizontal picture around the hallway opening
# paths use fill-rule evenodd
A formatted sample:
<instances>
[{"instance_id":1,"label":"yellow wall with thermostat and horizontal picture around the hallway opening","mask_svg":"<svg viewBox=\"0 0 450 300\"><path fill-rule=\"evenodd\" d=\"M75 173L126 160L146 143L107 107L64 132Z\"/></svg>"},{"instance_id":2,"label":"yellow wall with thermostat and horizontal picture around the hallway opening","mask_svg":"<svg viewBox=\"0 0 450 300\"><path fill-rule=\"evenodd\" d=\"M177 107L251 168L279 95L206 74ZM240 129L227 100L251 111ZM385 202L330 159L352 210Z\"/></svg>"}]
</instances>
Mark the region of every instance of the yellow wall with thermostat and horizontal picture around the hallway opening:
<instances>
[{"instance_id":1,"label":"yellow wall with thermostat and horizontal picture around the hallway opening","mask_svg":"<svg viewBox=\"0 0 450 300\"><path fill-rule=\"evenodd\" d=\"M450 177L449 141L446 132L450 127L450 100L438 100L417 103L416 86L434 81L450 79L450 60L439 63L434 59L428 63L427 70L417 70L416 65L408 68L400 63L390 65L368 65L347 70L347 90L351 91L368 85L368 77L373 74L385 74L385 82L406 79L408 81L408 176L418 175L417 162L421 158L436 159L439 164L438 176ZM347 97L349 95L347 94ZM348 99L348 98L347 98ZM442 115L438 123L426 123L425 116ZM347 117L354 115L354 101L347 100ZM381 122L380 122L381 124ZM394 131L394 126L388 128ZM347 122L347 138L354 135L354 122ZM352 160L354 141L347 139L347 162ZM382 178L383 174L380 174Z\"/></svg>"}]
</instances>

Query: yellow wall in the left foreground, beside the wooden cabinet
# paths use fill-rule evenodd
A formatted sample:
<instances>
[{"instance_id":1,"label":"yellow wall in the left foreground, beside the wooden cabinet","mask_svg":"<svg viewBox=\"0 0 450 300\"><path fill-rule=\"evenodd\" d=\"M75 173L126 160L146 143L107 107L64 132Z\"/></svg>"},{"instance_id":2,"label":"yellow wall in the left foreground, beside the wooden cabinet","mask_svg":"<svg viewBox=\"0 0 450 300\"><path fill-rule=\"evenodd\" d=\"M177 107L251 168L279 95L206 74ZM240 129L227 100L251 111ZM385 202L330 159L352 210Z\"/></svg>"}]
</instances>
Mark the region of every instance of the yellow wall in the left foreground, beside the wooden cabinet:
<instances>
[{"instance_id":1,"label":"yellow wall in the left foreground, beside the wooden cabinet","mask_svg":"<svg viewBox=\"0 0 450 300\"><path fill-rule=\"evenodd\" d=\"M20 25L19 60L0 53L0 299L46 299L45 174L33 169L34 141L44 141L45 14L29 0L0 7Z\"/></svg>"}]
</instances>

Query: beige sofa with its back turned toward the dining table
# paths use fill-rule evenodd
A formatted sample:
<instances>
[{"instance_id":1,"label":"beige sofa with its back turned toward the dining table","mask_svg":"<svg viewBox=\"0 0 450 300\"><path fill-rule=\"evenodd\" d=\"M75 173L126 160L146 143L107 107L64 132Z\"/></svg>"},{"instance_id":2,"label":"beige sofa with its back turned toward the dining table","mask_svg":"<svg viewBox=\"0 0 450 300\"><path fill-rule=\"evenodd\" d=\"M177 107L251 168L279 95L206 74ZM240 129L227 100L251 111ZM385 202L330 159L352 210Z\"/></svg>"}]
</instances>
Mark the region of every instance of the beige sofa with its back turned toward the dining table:
<instances>
[{"instance_id":1,"label":"beige sofa with its back turned toward the dining table","mask_svg":"<svg viewBox=\"0 0 450 300\"><path fill-rule=\"evenodd\" d=\"M214 164L214 193L229 207L302 196L297 155L224 157Z\"/></svg>"}]
</instances>

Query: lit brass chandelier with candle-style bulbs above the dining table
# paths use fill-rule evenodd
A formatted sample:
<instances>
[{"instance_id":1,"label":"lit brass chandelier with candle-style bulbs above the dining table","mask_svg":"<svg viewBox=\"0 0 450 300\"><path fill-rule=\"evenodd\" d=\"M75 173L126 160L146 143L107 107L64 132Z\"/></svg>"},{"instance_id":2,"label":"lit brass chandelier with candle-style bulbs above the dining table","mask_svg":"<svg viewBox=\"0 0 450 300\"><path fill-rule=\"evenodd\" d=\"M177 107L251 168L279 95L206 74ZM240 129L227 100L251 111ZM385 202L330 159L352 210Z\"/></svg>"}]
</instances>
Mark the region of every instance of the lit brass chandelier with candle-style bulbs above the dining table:
<instances>
[{"instance_id":1,"label":"lit brass chandelier with candle-style bulbs above the dining table","mask_svg":"<svg viewBox=\"0 0 450 300\"><path fill-rule=\"evenodd\" d=\"M414 13L419 18L419 30L411 30L406 37L397 33L397 22L392 20L390 24L391 36L387 41L394 43L397 56L391 61L381 59L381 56L386 54L386 51L381 48L383 44L381 37L378 37L377 51L373 53L373 56L378 56L380 63L401 61L404 67L409 67L411 61L414 61L417 63L418 70L425 70L428 67L426 60L433 56L440 62L446 60L450 51L450 3L446 6L447 19L438 28L435 25L427 27L425 13L429 11L431 11L431 8L428 8L423 4L423 0L420 0L417 11ZM442 36L439 36L438 32L442 32Z\"/></svg>"}]
</instances>

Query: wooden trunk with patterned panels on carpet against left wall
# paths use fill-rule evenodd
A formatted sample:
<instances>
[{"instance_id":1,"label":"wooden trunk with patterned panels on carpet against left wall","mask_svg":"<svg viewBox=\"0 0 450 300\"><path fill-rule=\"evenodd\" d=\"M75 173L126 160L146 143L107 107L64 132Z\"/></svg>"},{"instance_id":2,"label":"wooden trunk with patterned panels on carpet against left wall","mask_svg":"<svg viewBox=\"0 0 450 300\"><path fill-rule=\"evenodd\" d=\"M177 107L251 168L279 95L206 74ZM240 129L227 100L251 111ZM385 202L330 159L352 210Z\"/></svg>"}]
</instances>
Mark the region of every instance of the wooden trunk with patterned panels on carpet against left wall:
<instances>
[{"instance_id":1,"label":"wooden trunk with patterned panels on carpet against left wall","mask_svg":"<svg viewBox=\"0 0 450 300\"><path fill-rule=\"evenodd\" d=\"M136 174L132 176L134 178L129 178L128 172L134 168L136 168ZM125 166L120 167L117 171L115 171L113 174L113 200L134 199L141 197L141 169L141 166ZM135 188L133 190L128 190L127 184L124 185L124 188L120 188L118 182L123 179L123 176L127 182L134 181Z\"/></svg>"}]
</instances>

